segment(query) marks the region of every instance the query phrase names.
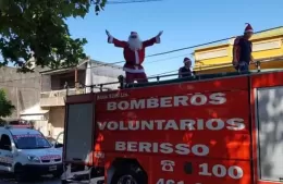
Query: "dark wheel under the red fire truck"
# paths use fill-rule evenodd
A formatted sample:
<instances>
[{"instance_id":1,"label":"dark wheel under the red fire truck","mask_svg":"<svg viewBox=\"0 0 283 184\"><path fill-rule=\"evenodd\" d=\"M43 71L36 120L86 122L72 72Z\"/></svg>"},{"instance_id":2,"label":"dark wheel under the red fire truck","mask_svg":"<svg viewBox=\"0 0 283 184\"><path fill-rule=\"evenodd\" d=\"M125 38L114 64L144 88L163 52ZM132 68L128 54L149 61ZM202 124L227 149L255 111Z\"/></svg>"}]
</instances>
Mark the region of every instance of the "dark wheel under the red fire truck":
<instances>
[{"instance_id":1,"label":"dark wheel under the red fire truck","mask_svg":"<svg viewBox=\"0 0 283 184\"><path fill-rule=\"evenodd\" d=\"M111 184L147 184L147 176L137 167L123 167L115 171Z\"/></svg>"}]
</instances>

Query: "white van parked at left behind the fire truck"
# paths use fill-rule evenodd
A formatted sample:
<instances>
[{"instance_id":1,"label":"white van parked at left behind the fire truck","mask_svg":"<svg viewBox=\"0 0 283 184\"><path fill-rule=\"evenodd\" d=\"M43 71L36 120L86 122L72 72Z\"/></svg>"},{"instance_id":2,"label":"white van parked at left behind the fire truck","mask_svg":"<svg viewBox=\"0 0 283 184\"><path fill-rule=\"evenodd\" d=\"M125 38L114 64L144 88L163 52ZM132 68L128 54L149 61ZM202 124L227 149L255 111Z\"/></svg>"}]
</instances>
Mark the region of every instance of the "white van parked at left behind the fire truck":
<instances>
[{"instance_id":1,"label":"white van parked at left behind the fire truck","mask_svg":"<svg viewBox=\"0 0 283 184\"><path fill-rule=\"evenodd\" d=\"M62 151L38 131L27 126L0 126L0 172L14 173L17 181L33 175L61 176Z\"/></svg>"}]
</instances>

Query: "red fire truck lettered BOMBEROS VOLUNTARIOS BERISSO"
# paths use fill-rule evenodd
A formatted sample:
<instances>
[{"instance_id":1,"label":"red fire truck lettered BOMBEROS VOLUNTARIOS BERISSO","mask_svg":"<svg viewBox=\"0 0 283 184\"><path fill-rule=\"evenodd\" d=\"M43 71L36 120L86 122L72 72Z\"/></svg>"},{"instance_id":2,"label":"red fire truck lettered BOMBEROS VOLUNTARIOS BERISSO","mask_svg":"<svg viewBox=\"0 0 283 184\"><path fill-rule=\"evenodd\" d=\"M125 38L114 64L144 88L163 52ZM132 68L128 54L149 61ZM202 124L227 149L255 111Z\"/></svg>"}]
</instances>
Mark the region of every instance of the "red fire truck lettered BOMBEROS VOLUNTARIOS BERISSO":
<instances>
[{"instance_id":1,"label":"red fire truck lettered BOMBEROS VOLUNTARIOS BERISSO","mask_svg":"<svg viewBox=\"0 0 283 184\"><path fill-rule=\"evenodd\" d=\"M282 71L121 86L66 97L62 183L282 182Z\"/></svg>"}]
</instances>

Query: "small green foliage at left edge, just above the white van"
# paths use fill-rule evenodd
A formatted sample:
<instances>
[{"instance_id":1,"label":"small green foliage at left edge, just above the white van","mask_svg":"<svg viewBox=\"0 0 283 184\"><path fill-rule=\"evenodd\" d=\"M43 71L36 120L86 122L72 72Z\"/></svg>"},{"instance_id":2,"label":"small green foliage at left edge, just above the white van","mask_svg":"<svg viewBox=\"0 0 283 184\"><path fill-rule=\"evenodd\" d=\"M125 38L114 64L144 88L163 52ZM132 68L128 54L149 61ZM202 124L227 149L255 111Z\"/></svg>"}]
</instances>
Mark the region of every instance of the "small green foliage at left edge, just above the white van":
<instances>
[{"instance_id":1,"label":"small green foliage at left edge, just above the white van","mask_svg":"<svg viewBox=\"0 0 283 184\"><path fill-rule=\"evenodd\" d=\"M0 89L0 120L12 114L15 107L7 99L5 91Z\"/></svg>"}]
</instances>

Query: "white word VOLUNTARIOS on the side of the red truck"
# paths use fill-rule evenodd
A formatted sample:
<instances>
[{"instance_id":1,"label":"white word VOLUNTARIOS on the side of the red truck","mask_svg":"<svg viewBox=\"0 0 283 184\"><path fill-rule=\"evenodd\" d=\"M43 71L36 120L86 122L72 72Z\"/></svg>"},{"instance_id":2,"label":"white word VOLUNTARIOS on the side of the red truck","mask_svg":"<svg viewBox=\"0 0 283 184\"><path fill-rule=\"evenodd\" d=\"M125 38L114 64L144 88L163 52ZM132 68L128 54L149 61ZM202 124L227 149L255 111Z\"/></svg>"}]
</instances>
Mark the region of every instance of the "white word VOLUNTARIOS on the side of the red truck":
<instances>
[{"instance_id":1,"label":"white word VOLUNTARIOS on the side of the red truck","mask_svg":"<svg viewBox=\"0 0 283 184\"><path fill-rule=\"evenodd\" d=\"M185 119L185 120L137 120L137 121L98 121L100 131L242 131L245 122L239 118L221 119Z\"/></svg>"}]
</instances>

